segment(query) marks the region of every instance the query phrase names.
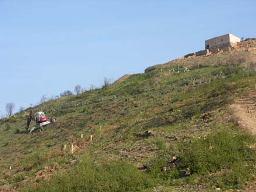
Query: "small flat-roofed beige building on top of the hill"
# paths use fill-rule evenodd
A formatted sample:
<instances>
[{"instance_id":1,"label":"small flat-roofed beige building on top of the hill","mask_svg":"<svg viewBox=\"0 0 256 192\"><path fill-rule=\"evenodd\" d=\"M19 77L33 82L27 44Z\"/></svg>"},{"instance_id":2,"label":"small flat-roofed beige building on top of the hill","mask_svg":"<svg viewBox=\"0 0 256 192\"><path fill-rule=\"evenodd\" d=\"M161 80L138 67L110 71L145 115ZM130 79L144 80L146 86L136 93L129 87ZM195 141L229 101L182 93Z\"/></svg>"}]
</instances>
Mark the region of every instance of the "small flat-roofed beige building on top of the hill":
<instances>
[{"instance_id":1,"label":"small flat-roofed beige building on top of the hill","mask_svg":"<svg viewBox=\"0 0 256 192\"><path fill-rule=\"evenodd\" d=\"M232 42L232 44L230 44ZM222 45L230 44L230 46L234 46L236 42L240 42L240 38L232 35L232 34L225 34L219 37L214 37L209 40L205 41L205 49L216 49L219 47L223 47Z\"/></svg>"}]
</instances>

